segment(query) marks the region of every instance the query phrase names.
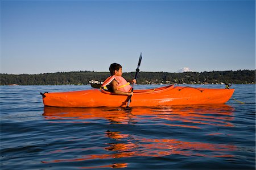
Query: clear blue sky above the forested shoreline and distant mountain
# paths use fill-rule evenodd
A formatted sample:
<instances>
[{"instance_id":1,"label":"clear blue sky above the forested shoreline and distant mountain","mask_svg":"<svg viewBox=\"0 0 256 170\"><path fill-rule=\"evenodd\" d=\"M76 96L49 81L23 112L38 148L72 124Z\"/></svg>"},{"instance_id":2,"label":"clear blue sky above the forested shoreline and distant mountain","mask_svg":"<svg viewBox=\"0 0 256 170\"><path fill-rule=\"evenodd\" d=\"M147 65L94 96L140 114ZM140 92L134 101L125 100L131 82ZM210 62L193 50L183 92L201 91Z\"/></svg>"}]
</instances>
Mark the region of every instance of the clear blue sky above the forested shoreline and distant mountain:
<instances>
[{"instance_id":1,"label":"clear blue sky above the forested shoreline and distant mountain","mask_svg":"<svg viewBox=\"0 0 256 170\"><path fill-rule=\"evenodd\" d=\"M255 69L255 0L1 0L1 73Z\"/></svg>"}]
</instances>

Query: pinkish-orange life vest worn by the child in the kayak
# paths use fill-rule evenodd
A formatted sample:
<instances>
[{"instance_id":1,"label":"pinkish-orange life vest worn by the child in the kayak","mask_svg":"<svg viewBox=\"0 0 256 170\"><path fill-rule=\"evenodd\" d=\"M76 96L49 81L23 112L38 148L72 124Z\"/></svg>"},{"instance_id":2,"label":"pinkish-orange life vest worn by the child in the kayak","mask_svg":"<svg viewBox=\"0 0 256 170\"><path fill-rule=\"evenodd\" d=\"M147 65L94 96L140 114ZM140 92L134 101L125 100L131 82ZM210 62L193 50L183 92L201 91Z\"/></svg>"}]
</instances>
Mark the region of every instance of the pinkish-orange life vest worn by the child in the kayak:
<instances>
[{"instance_id":1,"label":"pinkish-orange life vest worn by the child in the kayak","mask_svg":"<svg viewBox=\"0 0 256 170\"><path fill-rule=\"evenodd\" d=\"M101 87L104 88L106 85L109 85L110 82L112 82L113 80L116 80L118 82L118 85L117 85L118 90L122 92L130 91L131 89L130 82L127 82L125 78L123 78L122 76L110 76L103 82Z\"/></svg>"}]
</instances>

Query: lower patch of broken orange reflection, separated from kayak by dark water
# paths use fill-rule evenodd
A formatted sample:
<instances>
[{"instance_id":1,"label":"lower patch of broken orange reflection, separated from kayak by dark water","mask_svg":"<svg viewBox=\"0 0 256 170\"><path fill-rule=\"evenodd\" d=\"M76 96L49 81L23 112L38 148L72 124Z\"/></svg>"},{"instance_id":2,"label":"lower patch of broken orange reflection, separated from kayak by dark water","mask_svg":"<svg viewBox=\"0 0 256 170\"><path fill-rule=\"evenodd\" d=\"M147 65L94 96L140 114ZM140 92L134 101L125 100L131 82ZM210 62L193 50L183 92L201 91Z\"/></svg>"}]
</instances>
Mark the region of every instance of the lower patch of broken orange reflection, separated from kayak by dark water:
<instances>
[{"instance_id":1,"label":"lower patch of broken orange reflection, separated from kayak by dark water","mask_svg":"<svg viewBox=\"0 0 256 170\"><path fill-rule=\"evenodd\" d=\"M126 143L109 143L108 151L115 151L112 157L130 157L130 156L154 156L162 157L166 155L179 154L185 156L209 156L209 157L233 157L233 155L222 155L220 151L234 151L236 147L225 144L210 144L202 142L184 142L177 139L150 139L140 138L139 136L129 136L119 132L108 132L111 136L120 136L114 138L122 139ZM117 135L118 134L118 135ZM130 140L133 138L133 140ZM126 140L123 140L126 139ZM197 151L213 151L213 155L199 154ZM194 153L195 152L195 153Z\"/></svg>"}]
</instances>

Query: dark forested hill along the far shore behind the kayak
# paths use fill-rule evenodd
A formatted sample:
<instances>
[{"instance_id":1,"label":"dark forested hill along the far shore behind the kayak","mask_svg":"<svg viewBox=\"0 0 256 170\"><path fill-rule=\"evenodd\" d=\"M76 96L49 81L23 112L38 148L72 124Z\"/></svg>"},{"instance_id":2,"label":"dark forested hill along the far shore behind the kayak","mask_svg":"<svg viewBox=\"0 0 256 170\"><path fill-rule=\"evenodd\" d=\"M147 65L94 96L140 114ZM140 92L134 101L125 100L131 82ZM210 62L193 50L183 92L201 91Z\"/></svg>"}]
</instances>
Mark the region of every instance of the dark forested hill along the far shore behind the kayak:
<instances>
[{"instance_id":1,"label":"dark forested hill along the far shore behind the kayak","mask_svg":"<svg viewBox=\"0 0 256 170\"><path fill-rule=\"evenodd\" d=\"M109 72L57 72L44 74L0 74L0 85L86 85L90 80L104 81ZM123 73L133 79L135 72ZM255 70L213 72L139 72L138 84L255 84Z\"/></svg>"}]
</instances>

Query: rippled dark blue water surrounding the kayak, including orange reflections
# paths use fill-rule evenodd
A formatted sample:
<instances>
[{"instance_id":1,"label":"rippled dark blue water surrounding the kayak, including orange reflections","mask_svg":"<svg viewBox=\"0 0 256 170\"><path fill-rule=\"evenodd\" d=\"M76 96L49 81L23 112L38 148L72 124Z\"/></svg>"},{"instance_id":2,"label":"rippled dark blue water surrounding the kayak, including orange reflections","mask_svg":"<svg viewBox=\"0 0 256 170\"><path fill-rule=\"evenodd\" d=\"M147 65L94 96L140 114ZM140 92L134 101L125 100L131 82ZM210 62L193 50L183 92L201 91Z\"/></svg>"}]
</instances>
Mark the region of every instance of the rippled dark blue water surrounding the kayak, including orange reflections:
<instances>
[{"instance_id":1,"label":"rippled dark blue water surrounding the kayak, including orange reflections","mask_svg":"<svg viewBox=\"0 0 256 170\"><path fill-rule=\"evenodd\" d=\"M225 105L124 110L44 108L39 94L88 85L1 86L0 168L255 169L255 85L232 88Z\"/></svg>"}]
</instances>

